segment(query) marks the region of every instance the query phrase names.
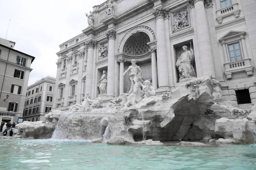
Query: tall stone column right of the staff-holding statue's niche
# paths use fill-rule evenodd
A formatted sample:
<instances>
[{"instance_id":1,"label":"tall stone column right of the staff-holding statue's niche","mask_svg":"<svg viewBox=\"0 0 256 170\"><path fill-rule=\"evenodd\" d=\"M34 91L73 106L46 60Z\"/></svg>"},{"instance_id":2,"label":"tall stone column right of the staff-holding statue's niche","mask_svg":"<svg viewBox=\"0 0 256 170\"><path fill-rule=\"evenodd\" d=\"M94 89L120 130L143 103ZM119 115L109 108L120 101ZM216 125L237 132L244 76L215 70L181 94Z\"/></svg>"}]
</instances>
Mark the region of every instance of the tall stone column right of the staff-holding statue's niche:
<instances>
[{"instance_id":1,"label":"tall stone column right of the staff-holding statue's niche","mask_svg":"<svg viewBox=\"0 0 256 170\"><path fill-rule=\"evenodd\" d=\"M210 3L208 0L188 0L188 2L195 6L195 20L196 28L198 31L198 45L201 57L201 67L203 76L215 75L213 58L212 58L212 47L209 36L209 28L207 25L207 17L204 8Z\"/></svg>"}]
</instances>

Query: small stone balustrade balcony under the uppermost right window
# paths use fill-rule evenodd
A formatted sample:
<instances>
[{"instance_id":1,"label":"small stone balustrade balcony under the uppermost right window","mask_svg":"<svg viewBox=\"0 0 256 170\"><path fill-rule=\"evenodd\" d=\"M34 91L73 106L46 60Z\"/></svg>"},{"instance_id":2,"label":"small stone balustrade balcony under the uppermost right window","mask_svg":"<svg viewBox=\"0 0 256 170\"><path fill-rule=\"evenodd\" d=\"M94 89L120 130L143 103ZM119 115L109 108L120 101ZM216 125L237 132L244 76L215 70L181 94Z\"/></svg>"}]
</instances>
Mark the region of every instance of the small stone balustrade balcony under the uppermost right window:
<instances>
[{"instance_id":1,"label":"small stone balustrade balcony under the uppermost right window","mask_svg":"<svg viewBox=\"0 0 256 170\"><path fill-rule=\"evenodd\" d=\"M222 8L218 11L216 11L217 18L219 24L222 23L223 18L229 17L231 15L235 15L236 18L240 17L241 9L238 8L238 3L233 4L232 6L229 6L227 8Z\"/></svg>"}]
</instances>

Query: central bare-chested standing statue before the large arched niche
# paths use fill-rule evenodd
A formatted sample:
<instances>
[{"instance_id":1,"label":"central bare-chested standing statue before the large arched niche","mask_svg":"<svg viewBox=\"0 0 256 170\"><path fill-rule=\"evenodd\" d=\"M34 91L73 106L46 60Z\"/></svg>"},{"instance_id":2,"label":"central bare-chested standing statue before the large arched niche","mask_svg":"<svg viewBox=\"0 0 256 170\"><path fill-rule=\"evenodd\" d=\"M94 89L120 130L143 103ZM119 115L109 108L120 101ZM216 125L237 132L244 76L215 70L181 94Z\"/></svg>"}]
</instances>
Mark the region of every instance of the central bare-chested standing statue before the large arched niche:
<instances>
[{"instance_id":1,"label":"central bare-chested standing statue before the large arched niche","mask_svg":"<svg viewBox=\"0 0 256 170\"><path fill-rule=\"evenodd\" d=\"M124 72L124 74L122 74L122 76L125 76L125 74L130 71L130 74L128 74L129 77L129 81L131 82L130 87L127 90L127 95L133 94L134 91L134 85L137 82L140 82L141 84L143 84L143 79L141 79L141 69L138 65L136 65L136 60L132 59L131 60L131 65L129 66L129 68Z\"/></svg>"}]
</instances>

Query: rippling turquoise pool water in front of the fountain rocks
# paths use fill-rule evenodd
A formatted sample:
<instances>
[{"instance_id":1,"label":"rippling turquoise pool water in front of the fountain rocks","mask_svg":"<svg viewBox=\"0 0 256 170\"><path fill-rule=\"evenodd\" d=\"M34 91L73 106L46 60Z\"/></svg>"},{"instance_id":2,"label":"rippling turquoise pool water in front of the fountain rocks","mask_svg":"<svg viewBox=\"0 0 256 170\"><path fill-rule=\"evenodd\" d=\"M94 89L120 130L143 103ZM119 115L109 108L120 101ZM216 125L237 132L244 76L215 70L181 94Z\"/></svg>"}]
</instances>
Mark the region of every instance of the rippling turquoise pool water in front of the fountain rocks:
<instances>
[{"instance_id":1,"label":"rippling turquoise pool water in front of the fountain rocks","mask_svg":"<svg viewBox=\"0 0 256 170\"><path fill-rule=\"evenodd\" d=\"M256 145L108 145L79 140L0 140L0 170L253 170Z\"/></svg>"}]
</instances>

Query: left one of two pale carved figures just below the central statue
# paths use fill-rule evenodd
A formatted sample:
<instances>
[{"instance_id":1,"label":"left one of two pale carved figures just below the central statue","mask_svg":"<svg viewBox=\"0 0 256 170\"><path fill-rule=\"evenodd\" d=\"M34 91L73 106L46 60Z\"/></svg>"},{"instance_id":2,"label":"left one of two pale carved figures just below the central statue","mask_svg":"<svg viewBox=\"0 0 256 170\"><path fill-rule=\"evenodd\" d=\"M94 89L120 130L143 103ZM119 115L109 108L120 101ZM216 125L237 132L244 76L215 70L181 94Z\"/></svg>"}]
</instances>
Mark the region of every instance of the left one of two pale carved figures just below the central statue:
<instances>
[{"instance_id":1,"label":"left one of two pale carved figures just below the central statue","mask_svg":"<svg viewBox=\"0 0 256 170\"><path fill-rule=\"evenodd\" d=\"M131 105L135 105L136 103L139 103L142 101L141 97L141 89L140 89L141 83L136 82L133 87L133 94L128 96L128 102L125 103L125 107L130 107Z\"/></svg>"}]
</instances>

